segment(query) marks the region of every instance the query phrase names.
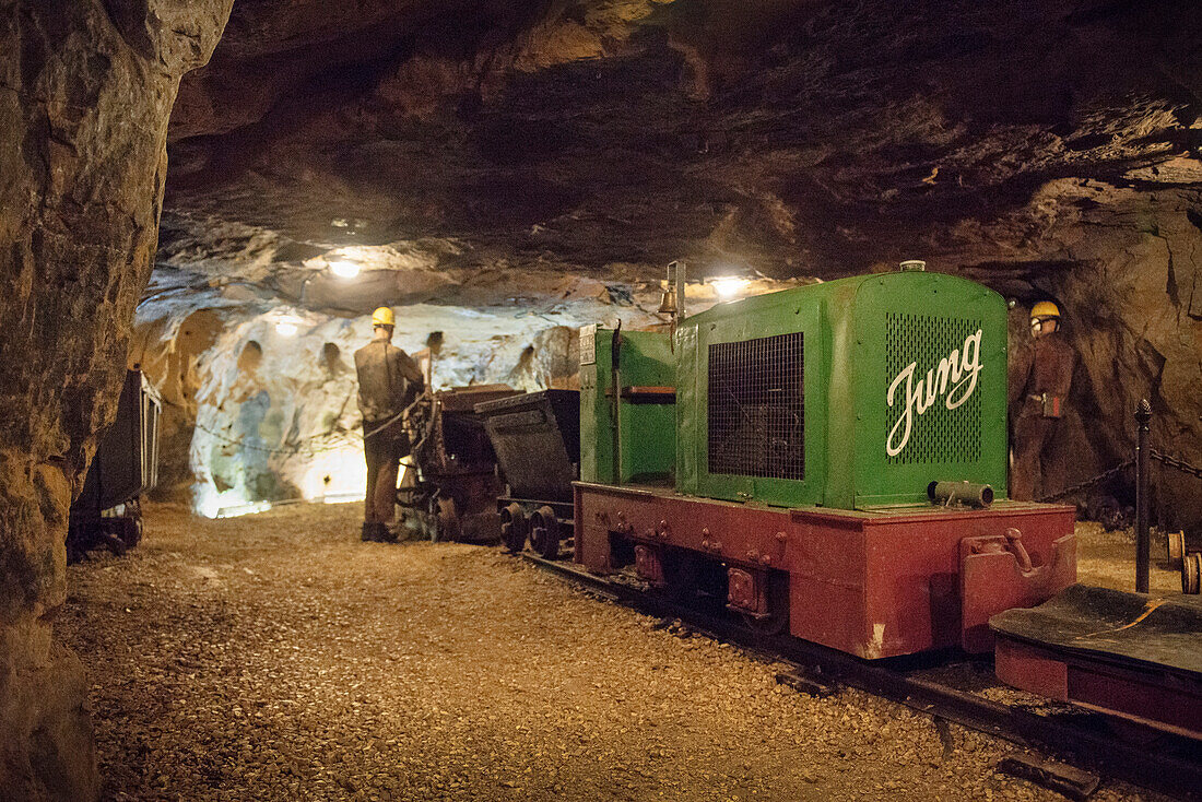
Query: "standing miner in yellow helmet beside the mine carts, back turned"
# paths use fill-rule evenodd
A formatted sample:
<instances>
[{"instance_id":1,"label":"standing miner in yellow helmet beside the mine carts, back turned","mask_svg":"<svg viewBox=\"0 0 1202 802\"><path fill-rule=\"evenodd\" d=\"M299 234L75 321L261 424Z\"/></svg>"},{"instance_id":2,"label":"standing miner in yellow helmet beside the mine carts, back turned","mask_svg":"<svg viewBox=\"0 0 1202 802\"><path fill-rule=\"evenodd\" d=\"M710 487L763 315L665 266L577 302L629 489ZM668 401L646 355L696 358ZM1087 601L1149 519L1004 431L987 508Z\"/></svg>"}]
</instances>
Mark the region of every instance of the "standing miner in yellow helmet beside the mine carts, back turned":
<instances>
[{"instance_id":1,"label":"standing miner in yellow helmet beside the mine carts, back turned","mask_svg":"<svg viewBox=\"0 0 1202 802\"><path fill-rule=\"evenodd\" d=\"M410 447L401 412L422 393L423 381L417 364L392 344L395 325L392 309L376 309L371 313L371 323L375 337L355 352L359 411L363 412L363 456L368 463L363 540L393 542L397 540L393 530L397 474Z\"/></svg>"}]
</instances>

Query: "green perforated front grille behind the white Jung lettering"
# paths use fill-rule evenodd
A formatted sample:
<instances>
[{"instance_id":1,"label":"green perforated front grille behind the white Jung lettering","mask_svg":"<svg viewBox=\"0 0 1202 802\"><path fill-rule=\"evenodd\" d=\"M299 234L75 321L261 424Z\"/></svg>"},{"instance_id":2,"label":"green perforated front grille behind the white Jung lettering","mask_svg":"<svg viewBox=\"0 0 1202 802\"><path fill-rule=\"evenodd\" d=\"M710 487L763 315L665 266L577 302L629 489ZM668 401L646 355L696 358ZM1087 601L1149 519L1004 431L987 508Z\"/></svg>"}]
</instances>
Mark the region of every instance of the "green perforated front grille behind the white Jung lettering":
<instances>
[{"instance_id":1,"label":"green perforated front grille behind the white Jung lettering","mask_svg":"<svg viewBox=\"0 0 1202 802\"><path fill-rule=\"evenodd\" d=\"M940 360L948 358L953 351L963 356L965 338L982 326L980 320L902 313L886 313L885 317L885 375L895 376L915 362L916 382L924 379L928 370L938 369ZM886 457L888 464L977 462L981 458L981 396L980 391L974 392L952 410L940 397L922 415L915 415L910 441L899 455ZM905 404L904 398L899 400ZM885 439L892 422L893 416L886 416Z\"/></svg>"}]
</instances>

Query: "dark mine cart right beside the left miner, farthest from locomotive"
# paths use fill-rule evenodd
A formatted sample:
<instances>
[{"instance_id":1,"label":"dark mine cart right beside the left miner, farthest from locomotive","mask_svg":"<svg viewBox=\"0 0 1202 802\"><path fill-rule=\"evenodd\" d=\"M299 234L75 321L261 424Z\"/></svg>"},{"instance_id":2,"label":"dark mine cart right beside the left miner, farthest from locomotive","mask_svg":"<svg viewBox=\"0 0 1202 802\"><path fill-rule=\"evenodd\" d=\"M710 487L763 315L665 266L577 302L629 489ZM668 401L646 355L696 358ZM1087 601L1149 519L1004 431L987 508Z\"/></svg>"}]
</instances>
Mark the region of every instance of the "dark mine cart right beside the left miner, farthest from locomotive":
<instances>
[{"instance_id":1,"label":"dark mine cart right beside the left miner, farthest from locomotive","mask_svg":"<svg viewBox=\"0 0 1202 802\"><path fill-rule=\"evenodd\" d=\"M517 392L506 385L454 387L427 393L415 405L409 417L413 452L398 503L434 540L495 542L500 536L496 457L475 406Z\"/></svg>"}]
</instances>

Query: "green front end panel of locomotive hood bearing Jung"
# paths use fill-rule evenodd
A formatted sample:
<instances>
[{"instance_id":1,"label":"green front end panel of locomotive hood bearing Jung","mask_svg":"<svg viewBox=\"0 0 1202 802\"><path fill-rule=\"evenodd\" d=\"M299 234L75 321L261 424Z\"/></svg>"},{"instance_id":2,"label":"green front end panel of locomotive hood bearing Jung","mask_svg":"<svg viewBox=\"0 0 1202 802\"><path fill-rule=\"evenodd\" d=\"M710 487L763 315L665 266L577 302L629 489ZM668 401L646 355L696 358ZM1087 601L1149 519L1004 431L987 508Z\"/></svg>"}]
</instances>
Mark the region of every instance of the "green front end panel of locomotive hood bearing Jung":
<instances>
[{"instance_id":1,"label":"green front end panel of locomotive hood bearing Jung","mask_svg":"<svg viewBox=\"0 0 1202 802\"><path fill-rule=\"evenodd\" d=\"M1001 296L957 277L891 273L861 284L852 315L853 497L839 506L924 504L927 486L948 480L1002 498Z\"/></svg>"}]
</instances>

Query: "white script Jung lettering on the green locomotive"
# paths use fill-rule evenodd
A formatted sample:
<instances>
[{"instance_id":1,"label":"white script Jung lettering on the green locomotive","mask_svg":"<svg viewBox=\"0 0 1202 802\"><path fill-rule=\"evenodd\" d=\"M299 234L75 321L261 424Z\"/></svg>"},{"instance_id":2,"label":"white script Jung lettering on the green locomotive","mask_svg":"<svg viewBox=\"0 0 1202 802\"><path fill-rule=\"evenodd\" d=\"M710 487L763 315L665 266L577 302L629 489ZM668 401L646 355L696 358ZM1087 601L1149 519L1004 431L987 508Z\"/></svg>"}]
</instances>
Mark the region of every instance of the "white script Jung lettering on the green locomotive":
<instances>
[{"instance_id":1,"label":"white script Jung lettering on the green locomotive","mask_svg":"<svg viewBox=\"0 0 1202 802\"><path fill-rule=\"evenodd\" d=\"M893 376L885 397L889 409L893 409L894 403L904 405L885 441L885 451L891 457L897 457L910 442L915 417L930 409L936 400L944 398L947 409L957 409L976 392L977 375L981 373L981 329L969 334L963 346L952 349L936 367L927 370L926 376L920 374L915 386L914 374L917 368L918 363L911 362ZM903 391L894 402L894 396L899 396L899 387Z\"/></svg>"}]
</instances>

